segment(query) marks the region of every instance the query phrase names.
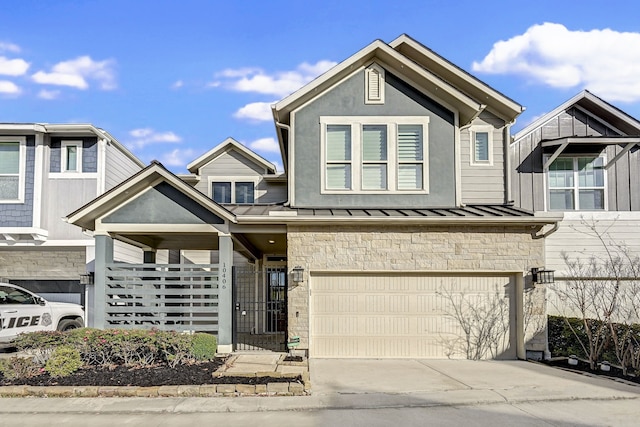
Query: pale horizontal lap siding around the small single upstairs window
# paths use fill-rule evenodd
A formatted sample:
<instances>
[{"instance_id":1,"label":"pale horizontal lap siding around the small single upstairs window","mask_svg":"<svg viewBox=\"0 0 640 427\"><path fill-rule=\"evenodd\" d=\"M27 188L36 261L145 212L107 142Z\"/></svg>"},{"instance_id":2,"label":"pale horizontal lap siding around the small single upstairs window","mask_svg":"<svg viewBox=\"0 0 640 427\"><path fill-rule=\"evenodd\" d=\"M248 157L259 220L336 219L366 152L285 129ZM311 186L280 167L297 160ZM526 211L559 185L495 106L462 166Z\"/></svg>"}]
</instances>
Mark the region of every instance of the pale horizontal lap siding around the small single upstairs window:
<instances>
[{"instance_id":1,"label":"pale horizontal lap siding around the small single upstairs window","mask_svg":"<svg viewBox=\"0 0 640 427\"><path fill-rule=\"evenodd\" d=\"M493 127L492 162L473 164L471 133L474 126ZM463 203L504 203L504 120L483 112L469 128L460 131L460 178Z\"/></svg>"}]
</instances>

